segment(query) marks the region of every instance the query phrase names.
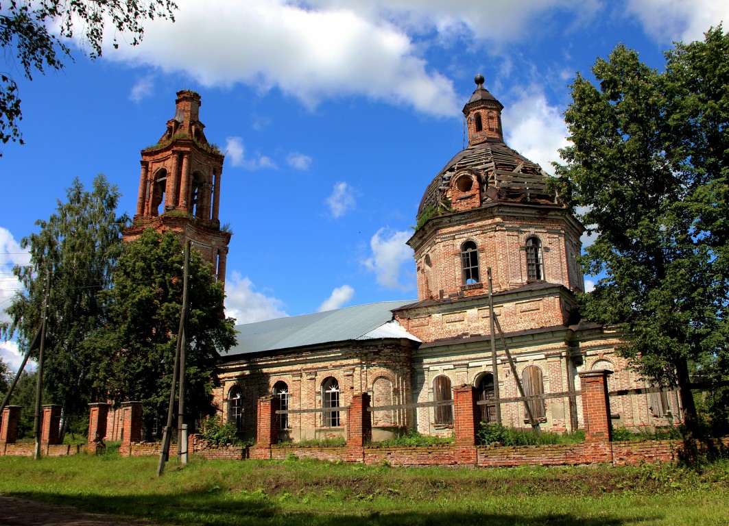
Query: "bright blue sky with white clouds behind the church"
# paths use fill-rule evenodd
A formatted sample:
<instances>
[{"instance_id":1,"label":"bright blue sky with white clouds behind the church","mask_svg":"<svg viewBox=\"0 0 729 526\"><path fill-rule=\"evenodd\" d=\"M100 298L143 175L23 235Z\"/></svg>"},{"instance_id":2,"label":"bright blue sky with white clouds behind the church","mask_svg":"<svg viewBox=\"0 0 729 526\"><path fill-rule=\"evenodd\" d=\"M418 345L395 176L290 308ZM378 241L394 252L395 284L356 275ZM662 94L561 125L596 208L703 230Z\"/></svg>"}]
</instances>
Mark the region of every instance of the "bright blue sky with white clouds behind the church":
<instances>
[{"instance_id":1,"label":"bright blue sky with white clouds behind the church","mask_svg":"<svg viewBox=\"0 0 729 526\"><path fill-rule=\"evenodd\" d=\"M227 313L238 323L415 299L405 245L426 185L464 146L461 108L481 73L506 141L552 171L577 71L619 43L660 68L677 40L729 20L720 0L178 0L138 47L22 79L25 146L1 145L0 308L17 243L74 177L104 173L136 210L140 150L202 96L225 152L220 219L234 235ZM109 34L109 36L113 36ZM15 342L0 354L17 364Z\"/></svg>"}]
</instances>

